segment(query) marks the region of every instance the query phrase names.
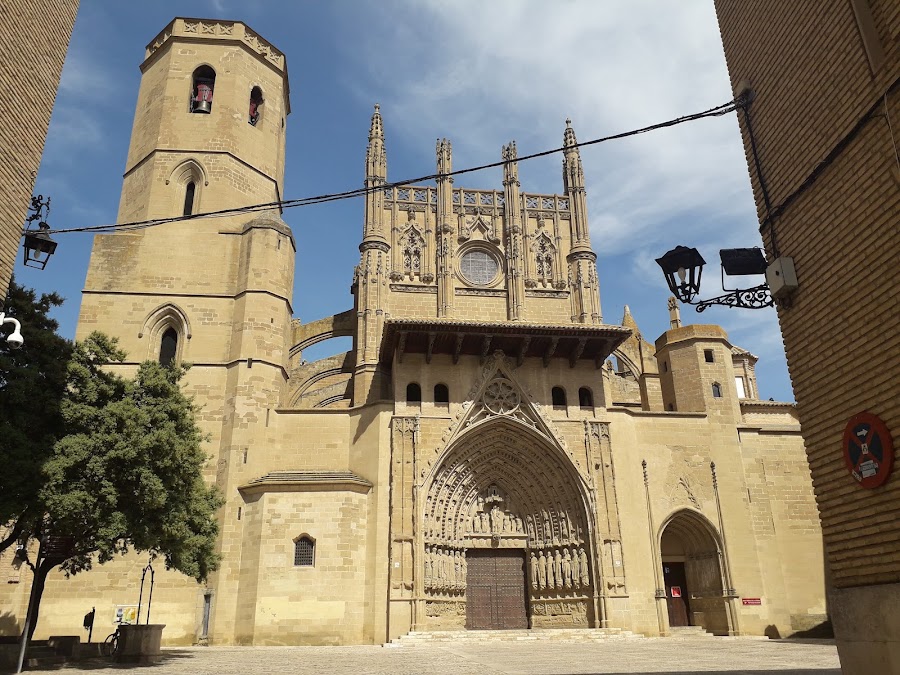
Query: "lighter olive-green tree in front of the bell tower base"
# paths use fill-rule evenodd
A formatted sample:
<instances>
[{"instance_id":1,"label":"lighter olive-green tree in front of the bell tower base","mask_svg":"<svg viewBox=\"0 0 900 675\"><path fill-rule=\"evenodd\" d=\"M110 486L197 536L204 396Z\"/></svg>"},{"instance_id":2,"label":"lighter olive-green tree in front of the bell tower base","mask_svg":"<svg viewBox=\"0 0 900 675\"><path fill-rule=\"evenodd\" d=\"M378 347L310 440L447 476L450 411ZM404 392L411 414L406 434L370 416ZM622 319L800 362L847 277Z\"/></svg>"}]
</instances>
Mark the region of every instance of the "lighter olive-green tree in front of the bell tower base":
<instances>
[{"instance_id":1,"label":"lighter olive-green tree in front of the bell tower base","mask_svg":"<svg viewBox=\"0 0 900 675\"><path fill-rule=\"evenodd\" d=\"M128 380L106 367L124 358L114 338L92 333L69 361L65 433L44 463L43 518L31 531L49 538L32 566L29 632L58 565L76 574L135 550L198 581L218 566L215 512L222 500L203 480L203 434L180 387L187 369L147 361Z\"/></svg>"}]
</instances>

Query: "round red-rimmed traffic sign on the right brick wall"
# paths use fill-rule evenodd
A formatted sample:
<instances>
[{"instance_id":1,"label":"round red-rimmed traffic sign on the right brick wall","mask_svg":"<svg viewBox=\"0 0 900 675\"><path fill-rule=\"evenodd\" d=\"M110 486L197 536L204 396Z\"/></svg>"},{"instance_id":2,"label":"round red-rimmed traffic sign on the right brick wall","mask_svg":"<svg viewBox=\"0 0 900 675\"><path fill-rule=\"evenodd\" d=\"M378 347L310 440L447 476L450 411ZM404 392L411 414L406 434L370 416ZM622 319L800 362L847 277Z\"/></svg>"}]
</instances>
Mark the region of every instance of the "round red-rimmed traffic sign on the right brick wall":
<instances>
[{"instance_id":1,"label":"round red-rimmed traffic sign on the right brick wall","mask_svg":"<svg viewBox=\"0 0 900 675\"><path fill-rule=\"evenodd\" d=\"M891 433L877 415L857 413L844 429L844 462L864 488L884 485L894 464Z\"/></svg>"}]
</instances>

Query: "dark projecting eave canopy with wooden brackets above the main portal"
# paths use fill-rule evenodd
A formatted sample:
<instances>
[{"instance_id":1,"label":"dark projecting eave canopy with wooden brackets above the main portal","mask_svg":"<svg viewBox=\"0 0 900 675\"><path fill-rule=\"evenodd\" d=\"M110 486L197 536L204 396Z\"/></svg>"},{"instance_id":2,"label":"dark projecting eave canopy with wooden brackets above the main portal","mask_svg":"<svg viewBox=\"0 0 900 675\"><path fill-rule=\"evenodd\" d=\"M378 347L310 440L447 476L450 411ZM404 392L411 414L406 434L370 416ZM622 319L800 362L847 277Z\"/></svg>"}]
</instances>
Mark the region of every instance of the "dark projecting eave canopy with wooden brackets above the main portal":
<instances>
[{"instance_id":1,"label":"dark projecting eave canopy with wooden brackets above the main portal","mask_svg":"<svg viewBox=\"0 0 900 675\"><path fill-rule=\"evenodd\" d=\"M604 324L542 324L522 321L466 321L461 319L388 319L381 340L381 361L390 364L406 354L424 354L431 363L435 354L450 354L453 363L462 354L487 357L498 350L515 357L540 358L546 368L551 359L567 359L574 368L579 360L603 365L631 329Z\"/></svg>"}]
</instances>

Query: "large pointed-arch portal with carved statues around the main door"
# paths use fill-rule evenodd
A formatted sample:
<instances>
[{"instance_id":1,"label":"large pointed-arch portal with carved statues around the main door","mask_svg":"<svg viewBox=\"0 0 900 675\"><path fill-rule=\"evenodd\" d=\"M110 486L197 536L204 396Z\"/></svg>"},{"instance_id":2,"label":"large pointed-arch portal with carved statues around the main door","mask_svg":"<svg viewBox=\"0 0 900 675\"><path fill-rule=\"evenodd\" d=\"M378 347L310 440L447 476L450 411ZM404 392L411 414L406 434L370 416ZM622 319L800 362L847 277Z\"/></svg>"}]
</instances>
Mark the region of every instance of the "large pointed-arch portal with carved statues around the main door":
<instances>
[{"instance_id":1,"label":"large pointed-arch portal with carved statues around the main door","mask_svg":"<svg viewBox=\"0 0 900 675\"><path fill-rule=\"evenodd\" d=\"M426 596L464 603L468 628L594 625L582 479L561 448L503 414L519 405L506 382L487 386L498 414L456 438L425 492Z\"/></svg>"}]
</instances>

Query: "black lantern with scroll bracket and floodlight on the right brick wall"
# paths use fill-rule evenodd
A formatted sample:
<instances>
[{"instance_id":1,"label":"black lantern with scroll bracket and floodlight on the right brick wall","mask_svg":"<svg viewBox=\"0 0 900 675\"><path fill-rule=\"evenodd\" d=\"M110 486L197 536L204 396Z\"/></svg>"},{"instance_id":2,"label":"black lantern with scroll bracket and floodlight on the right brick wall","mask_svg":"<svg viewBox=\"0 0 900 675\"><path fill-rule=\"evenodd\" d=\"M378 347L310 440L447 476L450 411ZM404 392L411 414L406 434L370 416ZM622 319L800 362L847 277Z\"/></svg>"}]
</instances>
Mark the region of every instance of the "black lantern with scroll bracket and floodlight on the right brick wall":
<instances>
[{"instance_id":1,"label":"black lantern with scroll bracket and floodlight on the right brick wall","mask_svg":"<svg viewBox=\"0 0 900 675\"><path fill-rule=\"evenodd\" d=\"M719 251L722 261L722 289L725 288L725 275L747 276L766 274L768 265L763 252L759 248L725 248ZM702 312L713 305L740 307L742 309L761 309L771 307L774 303L768 283L745 289L733 289L725 295L709 300L696 300L700 293L700 275L706 261L695 248L676 246L656 262L662 268L669 290L679 301L694 305ZM676 279L677 277L677 279Z\"/></svg>"}]
</instances>

